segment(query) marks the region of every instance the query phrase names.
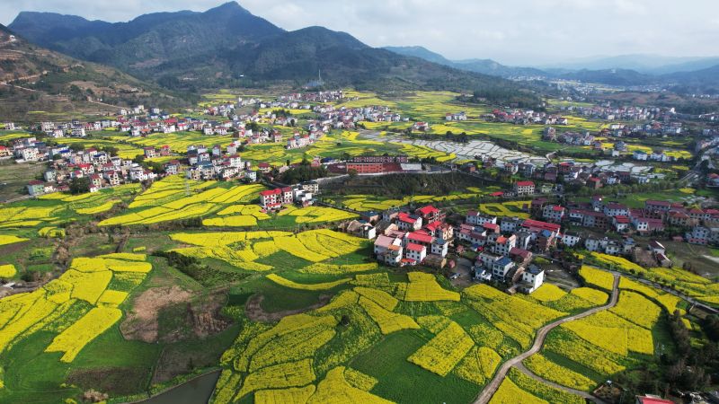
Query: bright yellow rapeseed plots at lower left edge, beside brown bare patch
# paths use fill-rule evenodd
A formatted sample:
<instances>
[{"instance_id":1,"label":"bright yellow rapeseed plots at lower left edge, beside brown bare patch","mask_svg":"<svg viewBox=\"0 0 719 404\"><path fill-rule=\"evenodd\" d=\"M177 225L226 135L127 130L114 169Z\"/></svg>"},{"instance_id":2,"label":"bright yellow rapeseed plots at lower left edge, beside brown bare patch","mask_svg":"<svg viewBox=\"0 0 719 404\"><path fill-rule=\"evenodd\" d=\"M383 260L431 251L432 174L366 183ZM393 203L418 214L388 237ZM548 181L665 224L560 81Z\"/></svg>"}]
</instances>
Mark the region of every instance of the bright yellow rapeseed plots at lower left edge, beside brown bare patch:
<instances>
[{"instance_id":1,"label":"bright yellow rapeseed plots at lower left edge, beside brown bare patch","mask_svg":"<svg viewBox=\"0 0 719 404\"><path fill-rule=\"evenodd\" d=\"M35 333L52 332L56 335L45 352L63 353L60 361L73 362L87 344L120 320L118 306L151 269L142 254L77 258L47 285L0 300L0 353ZM134 284L123 282L124 290L109 288L114 277L128 273L137 274Z\"/></svg>"}]
</instances>

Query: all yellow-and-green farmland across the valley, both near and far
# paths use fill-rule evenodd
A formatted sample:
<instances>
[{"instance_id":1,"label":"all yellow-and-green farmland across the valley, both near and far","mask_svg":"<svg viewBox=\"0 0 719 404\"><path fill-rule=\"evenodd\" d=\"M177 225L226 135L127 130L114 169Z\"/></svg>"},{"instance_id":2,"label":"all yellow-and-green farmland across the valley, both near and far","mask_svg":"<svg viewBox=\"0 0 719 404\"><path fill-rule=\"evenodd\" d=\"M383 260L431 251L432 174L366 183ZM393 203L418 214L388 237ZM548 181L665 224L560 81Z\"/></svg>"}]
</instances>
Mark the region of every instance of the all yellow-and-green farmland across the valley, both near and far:
<instances>
[{"instance_id":1,"label":"all yellow-and-green farmland across the valley, both near and far","mask_svg":"<svg viewBox=\"0 0 719 404\"><path fill-rule=\"evenodd\" d=\"M226 90L206 94L200 105L261 95ZM492 112L489 106L459 102L457 95L347 92L348 100L336 107L388 106L409 120L335 129L300 149L244 145L240 154L244 162L279 167L362 154L545 162L544 154L558 149L588 151L542 140L544 125L489 122L482 118ZM468 119L444 120L447 112L459 111ZM301 127L313 116L285 112ZM605 127L598 120L569 119L566 130ZM415 121L431 122L424 135L437 137L403 134ZM271 127L266 118L260 125ZM294 131L274 128L283 135ZM465 132L470 143L443 139L447 132ZM11 141L20 135L1 136ZM492 143L499 140L510 145ZM67 144L114 148L130 159L143 147L169 145L172 155L150 159L166 162L182 158L178 154L190 145L234 141L196 131L129 137L106 130ZM688 157L687 145L674 146L675 155ZM22 170L36 177L41 169L4 165L0 180L7 185L0 196L16 197L23 183L13 177L25 175ZM23 286L0 299L0 401L79 402L91 390L110 403L144 400L217 372L213 403L472 402L502 364L533 346L539 329L607 304L610 271L622 275L617 305L549 332L536 355L510 369L490 402L579 404L580 396L557 385L590 392L608 379L632 383L644 368L662 369L662 354L679 350L670 334L673 313L694 346L705 343L703 319L687 298L716 306L719 289L681 268L643 268L582 252L577 273L567 271L572 282L507 294L497 285L453 283L422 265L386 267L372 258L373 242L340 231L339 224L359 213L397 206L433 204L455 217L468 210L529 217L528 198L498 196L506 184L449 170L431 174L350 176L326 185L317 197L324 203L279 212L258 204L260 192L275 187L276 179L200 181L182 173L4 204L0 278ZM687 201L697 192L617 198L635 207L648 198ZM546 262L549 254L542 257ZM546 268L559 272L554 264ZM659 285L671 285L676 294Z\"/></svg>"}]
</instances>

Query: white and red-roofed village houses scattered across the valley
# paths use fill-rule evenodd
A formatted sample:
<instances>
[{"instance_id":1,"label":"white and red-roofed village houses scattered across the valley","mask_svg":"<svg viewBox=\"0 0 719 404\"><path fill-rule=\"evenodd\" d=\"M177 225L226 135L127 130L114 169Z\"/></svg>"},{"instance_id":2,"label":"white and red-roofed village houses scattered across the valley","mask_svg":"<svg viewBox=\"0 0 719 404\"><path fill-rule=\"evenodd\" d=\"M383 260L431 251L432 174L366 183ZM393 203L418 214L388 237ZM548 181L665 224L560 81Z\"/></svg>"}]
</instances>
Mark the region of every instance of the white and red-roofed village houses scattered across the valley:
<instances>
[{"instance_id":1,"label":"white and red-roofed village houses scattered across the valley","mask_svg":"<svg viewBox=\"0 0 719 404\"><path fill-rule=\"evenodd\" d=\"M309 180L297 184L280 184L275 177L290 170L297 164L271 165L267 162L254 163L244 160L241 154L246 145L262 143L283 144L287 150L313 145L316 140L332 130L354 129L364 122L407 122L408 118L387 107L337 108L330 101L343 100L342 91L292 93L278 97L275 101L238 97L236 102L206 105L200 112L205 117L217 119L178 118L157 108L145 109L138 105L122 109L114 119L94 122L73 120L66 123L41 122L33 129L44 133L53 142L38 141L28 137L13 141L10 146L0 146L0 157L13 156L17 162L48 162L43 180L31 180L27 189L31 197L42 194L67 191L74 180L87 181L86 191L95 192L129 182L152 182L168 175L184 174L188 180L240 180L262 181L279 187L260 193L262 211L273 213L283 206L311 206L317 202L321 192L319 182ZM250 114L238 110L251 108ZM261 112L262 110L262 112ZM306 127L297 128L295 115L283 111L294 110L311 114ZM660 119L661 124L652 121L644 126L629 127L612 124L597 136L629 136L637 131L650 133L659 131L663 136L679 134L681 124L672 122L674 111L670 109L639 109L628 107L610 109L564 108L567 112L602 119ZM307 118L307 117L306 117ZM489 119L490 117L486 117ZM465 121L466 112L448 112L446 121ZM568 125L561 115L531 110L495 110L491 119L512 121L515 124L539 123L546 125L543 139L568 145L584 145L602 148L601 141L586 131L583 133L558 133L554 126ZM519 120L528 119L528 122ZM271 125L264 128L261 124ZM293 133L284 138L277 128L288 127ZM13 123L5 127L21 129ZM668 130L671 127L673 129ZM113 151L95 147L55 144L63 137L83 138L98 130L116 130L129 137L149 136L154 133L173 134L176 132L200 132L209 142L213 136L231 136L233 141L226 146L189 145L184 154L173 152L169 145L146 146L143 154L134 159L123 159ZM428 122L415 121L414 131L431 129ZM676 129L676 130L674 130ZM706 140L697 144L702 150L716 145L719 135L705 132ZM714 137L712 137L714 136ZM626 143L619 140L612 148L612 157L619 152L626 155ZM635 150L631 158L640 162L670 162L662 152L647 154ZM460 171L470 176L483 177L494 172L502 180L504 190L494 192L494 198L534 198L523 210L532 219L516 216L493 216L470 210L463 221L456 215L450 223L434 206L416 209L396 207L381 214L361 212L362 219L356 223L344 224L348 233L364 239L377 239L375 255L387 265L403 267L426 265L444 268L448 265L449 251L470 250L478 254L473 266L473 277L477 280L493 280L509 285L510 289L530 293L542 283L541 270L532 264L533 254L547 254L559 248L582 248L609 255L625 255L633 261L648 266L669 267L661 242L652 240L646 246L637 245L634 234L641 237L662 235L675 242L689 242L703 245L719 243L719 211L711 208L686 207L682 204L661 200L648 200L643 208L629 208L616 202L605 202L604 197L595 195L590 202L564 202L559 200L570 189L601 189L619 184L638 186L650 181L665 180L666 173L654 172L651 167L637 166L629 162L538 162L501 161L487 156L475 156L478 162L462 165L437 162L418 162L404 154L378 155L363 154L349 159L313 158L311 167L324 167L332 176L343 175L385 175L404 173L412 175L422 172ZM156 158L161 163L148 164ZM498 170L498 171L496 171ZM537 181L537 183L535 182ZM708 176L707 184L719 185L719 175ZM559 198L558 198L559 197ZM562 231L564 228L564 231ZM614 234L608 237L604 233ZM452 261L449 261L452 262Z\"/></svg>"}]
</instances>

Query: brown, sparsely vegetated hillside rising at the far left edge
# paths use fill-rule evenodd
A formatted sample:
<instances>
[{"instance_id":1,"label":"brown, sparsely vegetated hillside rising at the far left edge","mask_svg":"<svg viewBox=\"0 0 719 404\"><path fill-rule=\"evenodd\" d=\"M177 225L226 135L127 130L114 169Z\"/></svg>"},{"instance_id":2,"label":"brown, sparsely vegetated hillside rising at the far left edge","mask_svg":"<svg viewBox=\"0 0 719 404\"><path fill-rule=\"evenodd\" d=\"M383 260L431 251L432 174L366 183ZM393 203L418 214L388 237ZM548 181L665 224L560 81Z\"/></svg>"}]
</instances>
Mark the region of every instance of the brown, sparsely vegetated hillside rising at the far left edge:
<instances>
[{"instance_id":1,"label":"brown, sparsely vegetated hillside rising at the far left edge","mask_svg":"<svg viewBox=\"0 0 719 404\"><path fill-rule=\"evenodd\" d=\"M148 103L187 105L191 98L165 92L110 66L84 62L32 45L0 25L0 116L23 120L40 114L98 113Z\"/></svg>"}]
</instances>

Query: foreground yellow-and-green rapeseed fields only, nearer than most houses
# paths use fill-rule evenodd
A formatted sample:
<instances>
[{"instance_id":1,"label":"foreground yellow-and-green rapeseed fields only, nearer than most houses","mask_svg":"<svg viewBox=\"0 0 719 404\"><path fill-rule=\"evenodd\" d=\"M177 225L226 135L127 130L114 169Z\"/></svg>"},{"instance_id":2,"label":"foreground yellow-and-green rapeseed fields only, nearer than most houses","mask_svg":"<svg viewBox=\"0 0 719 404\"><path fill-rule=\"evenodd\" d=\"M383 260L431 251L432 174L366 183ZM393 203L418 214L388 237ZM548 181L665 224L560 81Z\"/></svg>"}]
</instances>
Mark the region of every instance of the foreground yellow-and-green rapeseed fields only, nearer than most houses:
<instances>
[{"instance_id":1,"label":"foreground yellow-and-green rapeseed fields only, nearer than most houses","mask_svg":"<svg viewBox=\"0 0 719 404\"><path fill-rule=\"evenodd\" d=\"M79 244L73 248L75 258L56 279L29 294L0 300L6 313L0 328L0 357L7 364L2 398L45 400L58 394L72 398L83 386L98 383L93 372L118 366L133 369L132 377L122 383L95 384L111 400L144 397L146 391L182 382L182 374L219 368L222 373L212 397L217 403L323 402L327 397L363 402L468 402L504 361L527 349L539 327L608 300L607 290L602 290L606 285L599 280L569 292L545 285L531 296L510 296L488 285L457 290L432 273L384 268L368 259L370 242L329 229L303 227L353 217L347 212L315 206L267 215L253 205L260 190L253 185L168 177L146 189L126 187L83 197L51 194L4 207L6 222L12 224L4 230L7 246L28 244L39 250L64 238ZM452 198L472 200L489 190L471 189ZM363 195L346 196L342 201L362 209L408 202ZM510 215L521 206L522 202L516 202L488 208L506 209ZM199 229L152 227L192 218L199 220ZM112 237L95 237L95 242L85 243L81 241L90 236L77 239L71 229L67 234L60 232L67 225L88 221L101 232L146 230L130 233L119 252L92 254L103 250ZM107 247L114 249L115 244ZM196 264L175 268L169 265L171 256L146 255L154 251L172 252ZM2 267L6 278L21 276L30 262L21 253L13 254L15 258ZM666 306L659 306L643 297L650 294L647 286L628 280L622 286L616 310L570 322L553 332L546 352L526 361L527 368L548 381L586 391L602 377L631 370L651 356L652 341L661 338L656 336L661 311L678 302L667 300ZM160 290L172 291L166 298L168 305L156 317L141 320L136 311L146 304L144 296ZM195 334L198 330L179 321L182 310L177 308L182 306L177 306L173 294L178 299L190 296L191 310L221 308L224 320L220 323L225 325L200 337ZM661 295L659 291L652 294ZM226 297L217 301L215 296ZM643 316L635 316L637 307ZM274 314L297 310L301 312ZM259 320L264 318L277 320ZM131 337L138 332L132 325L135 321L156 321L155 337ZM621 343L608 345L607 338L617 340L617 335ZM161 341L167 353L188 352L197 364L188 367L175 356L161 355L146 340ZM208 341L212 352L200 355L194 350L202 340ZM97 356L110 347L120 349L120 357L112 364ZM601 354L604 362L574 353L587 347L591 347L587 355ZM38 357L33 366L49 369L44 380L68 387L37 390L21 384L27 373L17 364L29 352ZM125 355L135 357L135 362ZM570 364L566 356L577 364ZM174 370L168 368L167 375L140 371L155 363ZM567 382L570 379L573 382ZM70 380L80 384L70 385ZM430 399L417 395L411 387L416 383L431 387ZM505 402L508 394L526 395L537 402L579 400L548 385L530 383L515 371L493 402Z\"/></svg>"}]
</instances>

